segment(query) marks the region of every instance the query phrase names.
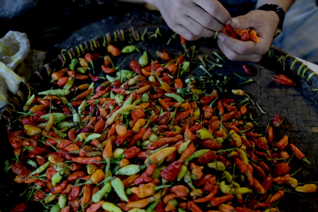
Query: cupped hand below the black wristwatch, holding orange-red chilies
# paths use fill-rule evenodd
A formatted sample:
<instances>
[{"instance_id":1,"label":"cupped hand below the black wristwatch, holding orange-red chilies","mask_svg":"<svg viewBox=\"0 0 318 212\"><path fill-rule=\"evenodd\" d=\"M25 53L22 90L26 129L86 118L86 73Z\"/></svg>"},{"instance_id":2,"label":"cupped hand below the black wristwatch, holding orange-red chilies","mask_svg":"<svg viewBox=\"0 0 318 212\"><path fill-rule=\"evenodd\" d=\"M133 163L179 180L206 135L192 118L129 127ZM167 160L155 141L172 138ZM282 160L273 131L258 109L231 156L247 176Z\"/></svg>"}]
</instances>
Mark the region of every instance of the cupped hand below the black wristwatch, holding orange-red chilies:
<instances>
[{"instance_id":1,"label":"cupped hand below the black wristwatch, holding orange-red chilies","mask_svg":"<svg viewBox=\"0 0 318 212\"><path fill-rule=\"evenodd\" d=\"M279 17L274 11L252 10L244 16L232 18L234 29L251 28L256 31L259 43L241 41L224 33L218 34L218 46L230 60L259 62L269 50Z\"/></svg>"}]
</instances>

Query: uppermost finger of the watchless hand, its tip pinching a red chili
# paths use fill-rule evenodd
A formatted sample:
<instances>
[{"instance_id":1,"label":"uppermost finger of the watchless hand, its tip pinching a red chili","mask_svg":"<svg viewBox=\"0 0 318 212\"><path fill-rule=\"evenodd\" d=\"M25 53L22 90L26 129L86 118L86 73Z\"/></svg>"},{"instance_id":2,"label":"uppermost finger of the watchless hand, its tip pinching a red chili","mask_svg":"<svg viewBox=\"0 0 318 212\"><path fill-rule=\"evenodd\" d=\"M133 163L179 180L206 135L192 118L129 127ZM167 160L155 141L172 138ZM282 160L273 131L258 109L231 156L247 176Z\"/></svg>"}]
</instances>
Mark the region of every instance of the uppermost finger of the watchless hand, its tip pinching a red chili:
<instances>
[{"instance_id":1,"label":"uppermost finger of the watchless hand, its tip pinching a red chili","mask_svg":"<svg viewBox=\"0 0 318 212\"><path fill-rule=\"evenodd\" d=\"M193 2L204 9L211 16L215 17L222 24L231 23L230 13L223 5L216 0L193 0Z\"/></svg>"}]
</instances>

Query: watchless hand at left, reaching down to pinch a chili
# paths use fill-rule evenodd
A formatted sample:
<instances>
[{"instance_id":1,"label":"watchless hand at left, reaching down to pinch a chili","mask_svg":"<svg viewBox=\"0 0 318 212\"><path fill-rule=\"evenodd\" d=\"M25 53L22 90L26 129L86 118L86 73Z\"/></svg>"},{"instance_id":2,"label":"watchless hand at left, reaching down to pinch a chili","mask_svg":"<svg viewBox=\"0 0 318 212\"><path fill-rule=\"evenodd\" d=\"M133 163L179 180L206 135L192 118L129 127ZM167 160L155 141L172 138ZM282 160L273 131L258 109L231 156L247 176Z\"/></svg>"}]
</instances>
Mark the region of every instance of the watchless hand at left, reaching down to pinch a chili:
<instances>
[{"instance_id":1,"label":"watchless hand at left, reaching down to pinch a chili","mask_svg":"<svg viewBox=\"0 0 318 212\"><path fill-rule=\"evenodd\" d=\"M168 26L187 40L211 37L231 23L230 13L217 0L148 0Z\"/></svg>"}]
</instances>

